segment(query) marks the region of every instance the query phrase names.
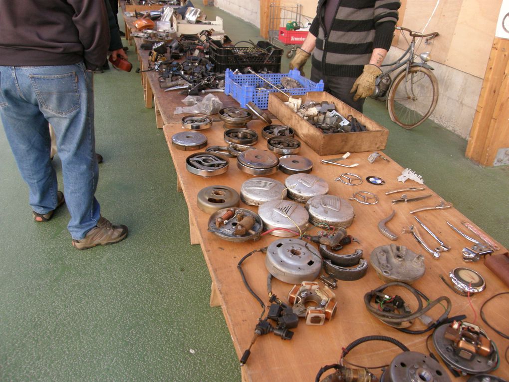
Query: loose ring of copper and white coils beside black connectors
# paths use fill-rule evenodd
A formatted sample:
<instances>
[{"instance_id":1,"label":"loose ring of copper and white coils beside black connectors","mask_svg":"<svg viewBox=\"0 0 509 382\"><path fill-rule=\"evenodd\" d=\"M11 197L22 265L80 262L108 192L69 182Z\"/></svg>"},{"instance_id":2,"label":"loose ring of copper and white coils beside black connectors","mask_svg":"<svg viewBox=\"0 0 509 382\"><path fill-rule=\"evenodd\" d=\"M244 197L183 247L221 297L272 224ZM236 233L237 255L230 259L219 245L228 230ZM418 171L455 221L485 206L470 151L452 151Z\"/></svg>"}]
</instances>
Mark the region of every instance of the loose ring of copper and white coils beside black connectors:
<instances>
[{"instance_id":1,"label":"loose ring of copper and white coils beside black connectors","mask_svg":"<svg viewBox=\"0 0 509 382\"><path fill-rule=\"evenodd\" d=\"M294 285L288 293L288 302L293 305L293 312L306 318L308 325L323 325L336 313L336 295L327 286L320 287L315 281L304 281Z\"/></svg>"}]
</instances>

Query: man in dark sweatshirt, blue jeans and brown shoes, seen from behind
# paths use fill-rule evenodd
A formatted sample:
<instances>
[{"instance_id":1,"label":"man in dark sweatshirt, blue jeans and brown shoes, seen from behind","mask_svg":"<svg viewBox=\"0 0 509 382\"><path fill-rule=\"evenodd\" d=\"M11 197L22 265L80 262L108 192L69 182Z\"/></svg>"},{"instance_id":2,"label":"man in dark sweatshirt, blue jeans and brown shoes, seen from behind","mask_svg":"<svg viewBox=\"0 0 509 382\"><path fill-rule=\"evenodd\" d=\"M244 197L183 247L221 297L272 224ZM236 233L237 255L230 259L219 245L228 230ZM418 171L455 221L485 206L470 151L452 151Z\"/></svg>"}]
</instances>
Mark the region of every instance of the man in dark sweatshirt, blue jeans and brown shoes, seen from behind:
<instances>
[{"instance_id":1,"label":"man in dark sweatshirt, blue jeans and brown shoes, seen from behind","mask_svg":"<svg viewBox=\"0 0 509 382\"><path fill-rule=\"evenodd\" d=\"M104 0L0 2L0 117L34 219L45 222L64 202L49 158L54 127L71 214L72 244L87 249L127 236L100 214L94 197L95 156L91 71L104 63L109 28Z\"/></svg>"}]
</instances>

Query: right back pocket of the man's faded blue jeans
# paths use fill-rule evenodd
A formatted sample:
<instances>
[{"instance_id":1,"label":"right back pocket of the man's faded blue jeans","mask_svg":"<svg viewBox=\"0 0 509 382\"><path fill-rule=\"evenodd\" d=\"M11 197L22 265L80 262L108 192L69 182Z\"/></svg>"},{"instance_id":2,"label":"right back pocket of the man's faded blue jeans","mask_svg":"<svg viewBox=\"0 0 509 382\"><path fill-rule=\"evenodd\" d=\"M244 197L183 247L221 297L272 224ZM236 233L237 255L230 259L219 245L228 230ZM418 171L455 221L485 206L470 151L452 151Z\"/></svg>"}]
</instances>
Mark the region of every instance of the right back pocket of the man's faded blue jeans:
<instances>
[{"instance_id":1,"label":"right back pocket of the man's faded blue jeans","mask_svg":"<svg viewBox=\"0 0 509 382\"><path fill-rule=\"evenodd\" d=\"M77 76L74 72L55 75L31 74L30 81L44 110L65 116L79 108Z\"/></svg>"}]
</instances>

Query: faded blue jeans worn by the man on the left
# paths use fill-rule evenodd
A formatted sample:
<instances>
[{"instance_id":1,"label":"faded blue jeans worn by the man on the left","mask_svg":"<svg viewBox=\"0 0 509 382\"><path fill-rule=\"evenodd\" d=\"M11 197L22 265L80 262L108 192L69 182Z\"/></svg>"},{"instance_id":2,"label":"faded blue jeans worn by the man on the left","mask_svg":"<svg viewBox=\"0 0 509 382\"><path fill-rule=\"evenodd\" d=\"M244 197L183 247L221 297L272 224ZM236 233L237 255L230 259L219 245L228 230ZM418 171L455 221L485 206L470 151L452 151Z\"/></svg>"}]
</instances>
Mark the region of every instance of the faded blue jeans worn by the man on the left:
<instances>
[{"instance_id":1,"label":"faded blue jeans worn by the man on the left","mask_svg":"<svg viewBox=\"0 0 509 382\"><path fill-rule=\"evenodd\" d=\"M99 172L92 73L83 63L0 66L0 117L19 172L29 186L30 205L42 214L57 204L48 122L53 126L71 214L67 228L73 239L82 239L100 218L94 197Z\"/></svg>"}]
</instances>

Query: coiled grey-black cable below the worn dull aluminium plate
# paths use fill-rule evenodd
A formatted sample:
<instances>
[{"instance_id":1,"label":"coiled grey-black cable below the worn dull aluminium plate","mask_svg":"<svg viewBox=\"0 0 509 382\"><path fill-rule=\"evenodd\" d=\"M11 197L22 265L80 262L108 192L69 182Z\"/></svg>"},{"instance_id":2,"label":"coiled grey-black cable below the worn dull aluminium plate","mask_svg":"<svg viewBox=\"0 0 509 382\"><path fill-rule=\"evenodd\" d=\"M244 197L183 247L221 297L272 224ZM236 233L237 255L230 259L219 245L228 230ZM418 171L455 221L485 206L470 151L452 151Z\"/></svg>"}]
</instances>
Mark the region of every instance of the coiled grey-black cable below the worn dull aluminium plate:
<instances>
[{"instance_id":1,"label":"coiled grey-black cable below the worn dull aluminium plate","mask_svg":"<svg viewBox=\"0 0 509 382\"><path fill-rule=\"evenodd\" d=\"M374 307L371 304L371 301L372 301L373 297L375 297L377 295L381 295L381 294L383 295L383 291L385 289L391 287L391 286L399 286L399 287L405 288L408 291L410 291L410 293L413 294L413 296L415 297L415 299L417 301L417 305L418 305L417 310L415 312L413 312L413 313L410 313L410 314L407 314L407 313L392 313L392 312L380 311L376 307ZM426 307L423 307L423 305L422 305L423 301L428 303L428 305ZM386 322L389 325L391 325L391 324L394 324L394 325L402 324L403 322L411 321L411 320L414 320L416 318L419 318L420 316L426 314L428 311L430 311L435 306L440 304L442 301L447 303L447 307L445 308L444 313L442 313L442 315L436 320L436 322L434 322L432 325L428 326L428 328L423 329L423 330L418 330L418 331L413 331L413 330L409 330L409 329L405 329L405 328L396 328L399 331L404 332L404 333L408 333L408 334L423 334L423 333L426 333L426 332L436 328L441 323L445 322L445 320L447 320L447 316L448 316L448 314L449 314L449 312L450 312L450 310L452 308L452 303L450 302L449 297L441 296L441 297L438 297L437 299L435 299L434 301L430 302L430 299L428 298L428 296L426 296L426 294L424 294L421 291L411 287L408 284L397 282L397 281L392 282L392 283L388 283L388 284L384 284L384 285L382 285L382 286L380 286L380 287L378 287L378 288L376 288L376 289L374 289L374 290L372 290L370 292L367 292L364 295L364 305L366 306L367 311L369 311L375 317L377 317L378 319Z\"/></svg>"}]
</instances>

